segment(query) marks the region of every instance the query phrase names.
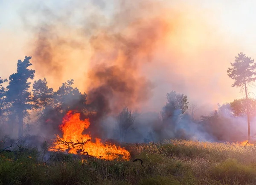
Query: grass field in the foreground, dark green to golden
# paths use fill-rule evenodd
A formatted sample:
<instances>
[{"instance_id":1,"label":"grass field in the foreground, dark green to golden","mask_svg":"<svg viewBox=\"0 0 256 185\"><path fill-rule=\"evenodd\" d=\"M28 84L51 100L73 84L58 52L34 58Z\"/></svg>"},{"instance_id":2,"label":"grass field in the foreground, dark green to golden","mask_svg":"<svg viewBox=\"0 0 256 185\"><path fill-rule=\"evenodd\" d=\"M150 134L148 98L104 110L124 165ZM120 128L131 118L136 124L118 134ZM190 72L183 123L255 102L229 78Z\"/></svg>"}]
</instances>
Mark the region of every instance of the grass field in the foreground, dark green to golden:
<instances>
[{"instance_id":1,"label":"grass field in the foreground, dark green to golden","mask_svg":"<svg viewBox=\"0 0 256 185\"><path fill-rule=\"evenodd\" d=\"M0 185L255 185L256 146L166 140L123 144L130 161L55 153L42 162L35 148L0 154ZM143 160L132 162L134 159Z\"/></svg>"}]
</instances>

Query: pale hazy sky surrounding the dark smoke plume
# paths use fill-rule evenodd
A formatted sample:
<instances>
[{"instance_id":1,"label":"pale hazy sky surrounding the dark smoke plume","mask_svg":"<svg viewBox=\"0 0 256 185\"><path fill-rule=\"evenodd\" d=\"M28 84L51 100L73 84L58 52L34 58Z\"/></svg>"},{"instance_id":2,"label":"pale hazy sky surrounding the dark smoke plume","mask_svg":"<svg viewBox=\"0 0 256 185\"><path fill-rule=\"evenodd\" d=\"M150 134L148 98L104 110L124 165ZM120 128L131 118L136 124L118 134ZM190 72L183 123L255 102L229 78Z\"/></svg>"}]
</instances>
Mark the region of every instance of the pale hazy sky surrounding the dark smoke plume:
<instances>
[{"instance_id":1,"label":"pale hazy sky surrounding the dark smoke plume","mask_svg":"<svg viewBox=\"0 0 256 185\"><path fill-rule=\"evenodd\" d=\"M30 55L29 48L34 35L24 20L31 21L34 25L39 19L36 11L41 5L49 7L58 14L62 9L66 9L70 2L70 0L0 0L0 77L8 78L15 72L17 60ZM101 15L108 17L116 11L114 0L86 2L83 3L84 14L100 12ZM238 88L231 87L233 81L227 76L227 68L239 52L256 59L254 49L256 1L155 0L153 2L164 5L163 16L172 17L174 14L179 14L179 18L177 23L172 23L174 24L172 34L165 38L168 44L156 48L154 63L141 69L141 74L156 84L154 95L148 104L143 106L148 110L160 109L165 103L166 93L172 90L187 94L191 101L200 105L209 103L216 105L242 97ZM78 3L74 4L74 7L77 7ZM72 16L74 24L76 19L81 19L83 13L79 12ZM160 13L161 11L158 12ZM172 20L175 19L173 17ZM84 54L79 60L88 61L85 58ZM72 57L71 59L76 60ZM78 63L74 62L74 65ZM81 66L85 68L87 64L81 63L77 69L69 71L61 77L62 81L58 81L58 84L48 80L49 85L56 88L62 82L74 78L79 89L86 91L86 85L84 82L81 83L86 69L82 70ZM36 73L36 79L39 77L41 78L41 74ZM48 76L47 78L50 79ZM254 89L252 91L256 92Z\"/></svg>"}]
</instances>

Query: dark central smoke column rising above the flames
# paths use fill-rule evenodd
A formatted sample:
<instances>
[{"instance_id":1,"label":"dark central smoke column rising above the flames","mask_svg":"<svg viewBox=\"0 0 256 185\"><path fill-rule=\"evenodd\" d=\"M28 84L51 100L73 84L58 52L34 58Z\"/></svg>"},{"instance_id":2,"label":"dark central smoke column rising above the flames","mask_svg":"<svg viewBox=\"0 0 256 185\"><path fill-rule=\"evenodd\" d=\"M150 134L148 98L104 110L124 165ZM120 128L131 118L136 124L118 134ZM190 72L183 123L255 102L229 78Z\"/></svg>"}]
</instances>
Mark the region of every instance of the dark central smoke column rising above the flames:
<instances>
[{"instance_id":1,"label":"dark central smoke column rising above the flames","mask_svg":"<svg viewBox=\"0 0 256 185\"><path fill-rule=\"evenodd\" d=\"M159 37L166 33L166 26L155 20L148 24L134 23L126 29L131 29L130 35L122 31L91 40L95 52L91 61L98 65L88 75L88 100L99 101L99 114L102 111L116 113L124 105L132 107L151 96L153 84L140 77L139 67L151 61L152 50Z\"/></svg>"}]
</instances>

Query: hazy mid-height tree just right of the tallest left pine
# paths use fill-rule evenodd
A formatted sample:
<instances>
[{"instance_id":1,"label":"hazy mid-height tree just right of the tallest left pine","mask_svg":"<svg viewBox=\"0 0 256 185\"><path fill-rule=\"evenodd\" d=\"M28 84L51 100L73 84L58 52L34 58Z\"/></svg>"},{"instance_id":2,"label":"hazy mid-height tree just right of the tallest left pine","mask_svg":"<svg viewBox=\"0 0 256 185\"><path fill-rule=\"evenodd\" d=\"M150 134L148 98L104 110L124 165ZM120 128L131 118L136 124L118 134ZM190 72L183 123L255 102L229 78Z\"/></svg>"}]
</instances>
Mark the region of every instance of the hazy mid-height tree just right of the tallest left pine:
<instances>
[{"instance_id":1,"label":"hazy mid-height tree just right of the tallest left pine","mask_svg":"<svg viewBox=\"0 0 256 185\"><path fill-rule=\"evenodd\" d=\"M53 106L53 88L48 88L47 80L36 80L32 88L33 102L36 109Z\"/></svg>"}]
</instances>

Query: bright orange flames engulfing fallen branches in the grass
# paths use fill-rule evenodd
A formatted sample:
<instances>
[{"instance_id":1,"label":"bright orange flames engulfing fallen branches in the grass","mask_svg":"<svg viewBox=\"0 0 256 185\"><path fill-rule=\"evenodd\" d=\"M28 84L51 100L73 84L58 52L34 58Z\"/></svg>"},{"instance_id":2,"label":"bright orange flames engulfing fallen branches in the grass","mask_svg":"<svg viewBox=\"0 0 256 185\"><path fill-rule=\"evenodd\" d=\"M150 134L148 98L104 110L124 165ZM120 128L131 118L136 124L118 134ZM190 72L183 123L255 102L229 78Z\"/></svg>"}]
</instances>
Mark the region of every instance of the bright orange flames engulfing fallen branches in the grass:
<instances>
[{"instance_id":1,"label":"bright orange flames engulfing fallen branches in the grass","mask_svg":"<svg viewBox=\"0 0 256 185\"><path fill-rule=\"evenodd\" d=\"M89 134L82 134L89 125L89 119L80 120L79 113L69 111L60 125L63 138L57 135L49 151L68 151L70 154L82 153L108 160L129 160L130 153L125 148L103 144L99 138L95 139L96 142L92 142Z\"/></svg>"}]
</instances>

